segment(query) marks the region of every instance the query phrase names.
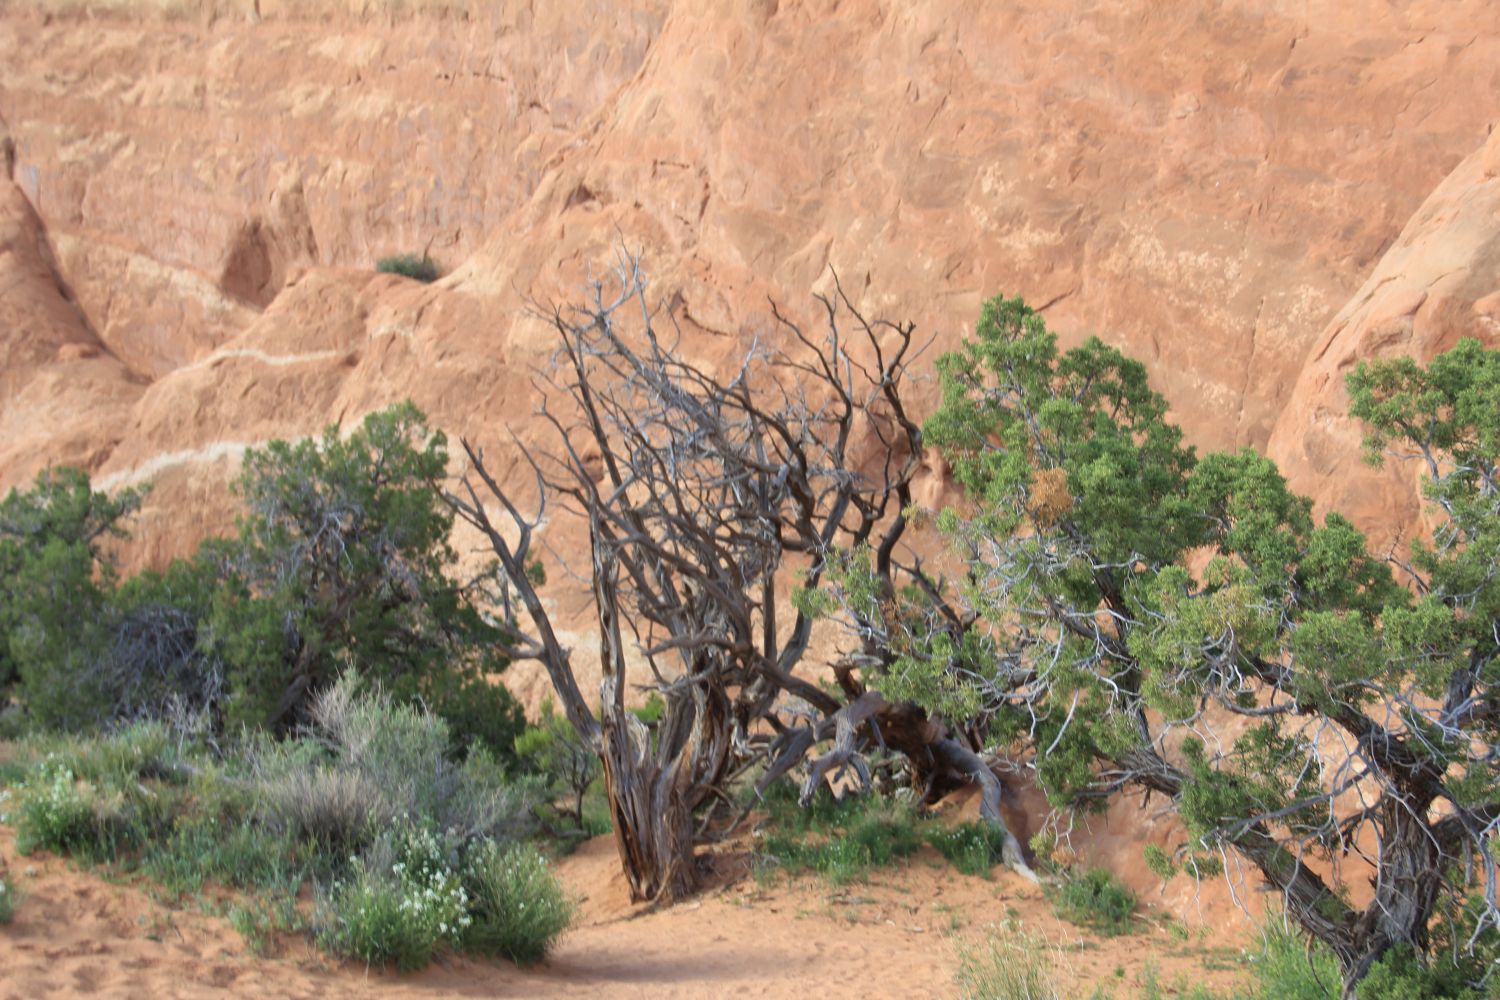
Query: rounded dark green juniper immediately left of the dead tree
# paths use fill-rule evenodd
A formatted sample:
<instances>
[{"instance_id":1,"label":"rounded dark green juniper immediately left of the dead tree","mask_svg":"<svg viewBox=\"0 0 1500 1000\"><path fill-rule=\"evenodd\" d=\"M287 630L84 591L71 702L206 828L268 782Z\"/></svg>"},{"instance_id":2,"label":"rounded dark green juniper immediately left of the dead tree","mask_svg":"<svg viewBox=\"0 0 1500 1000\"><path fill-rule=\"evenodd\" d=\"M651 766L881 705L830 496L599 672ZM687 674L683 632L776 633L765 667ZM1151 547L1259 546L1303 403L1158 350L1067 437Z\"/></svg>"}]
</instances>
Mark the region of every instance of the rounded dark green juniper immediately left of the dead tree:
<instances>
[{"instance_id":1,"label":"rounded dark green juniper immediately left of the dead tree","mask_svg":"<svg viewBox=\"0 0 1500 1000\"><path fill-rule=\"evenodd\" d=\"M231 717L297 724L350 666L398 700L428 700L459 742L508 756L520 711L486 681L506 664L506 631L484 613L495 568L454 574L446 445L408 402L348 436L246 453L240 535L207 555L224 574L208 630Z\"/></svg>"}]
</instances>

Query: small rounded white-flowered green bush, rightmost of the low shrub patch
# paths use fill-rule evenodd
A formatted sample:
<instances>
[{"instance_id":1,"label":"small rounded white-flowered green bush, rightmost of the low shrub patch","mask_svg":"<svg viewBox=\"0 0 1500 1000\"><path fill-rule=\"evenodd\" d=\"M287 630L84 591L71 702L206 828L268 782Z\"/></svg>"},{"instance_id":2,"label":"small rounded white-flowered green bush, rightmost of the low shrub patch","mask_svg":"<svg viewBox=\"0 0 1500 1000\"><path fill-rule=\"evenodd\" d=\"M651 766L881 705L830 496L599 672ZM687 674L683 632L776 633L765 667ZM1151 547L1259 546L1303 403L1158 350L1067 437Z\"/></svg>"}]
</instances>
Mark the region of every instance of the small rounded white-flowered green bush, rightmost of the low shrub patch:
<instances>
[{"instance_id":1,"label":"small rounded white-flowered green bush, rightmost of the low shrub patch","mask_svg":"<svg viewBox=\"0 0 1500 1000\"><path fill-rule=\"evenodd\" d=\"M477 955L530 966L546 958L573 921L573 903L534 847L480 841L465 858L464 883L474 915L464 948Z\"/></svg>"}]
</instances>

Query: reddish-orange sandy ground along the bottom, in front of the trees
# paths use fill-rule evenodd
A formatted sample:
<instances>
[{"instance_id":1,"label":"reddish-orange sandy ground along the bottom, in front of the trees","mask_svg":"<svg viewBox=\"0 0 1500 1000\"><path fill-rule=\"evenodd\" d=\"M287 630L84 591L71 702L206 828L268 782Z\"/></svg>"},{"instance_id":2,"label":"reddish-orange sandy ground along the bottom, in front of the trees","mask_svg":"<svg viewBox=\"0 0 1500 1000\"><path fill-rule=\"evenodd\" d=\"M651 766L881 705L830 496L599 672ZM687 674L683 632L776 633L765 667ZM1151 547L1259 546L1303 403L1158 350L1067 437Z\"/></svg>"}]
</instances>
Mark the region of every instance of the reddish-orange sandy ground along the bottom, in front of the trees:
<instances>
[{"instance_id":1,"label":"reddish-orange sandy ground along the bottom, in front of the trees","mask_svg":"<svg viewBox=\"0 0 1500 1000\"><path fill-rule=\"evenodd\" d=\"M957 948L996 922L1042 934L1088 996L1112 984L1131 996L1148 963L1168 987L1228 985L1250 937L1239 913L1174 913L1148 901L1144 930L1096 939L1053 918L1040 891L1005 873L962 876L924 849L867 885L814 879L760 885L746 855L714 859L716 888L644 912L626 901L614 843L598 838L560 862L582 897L578 927L554 958L526 972L446 958L400 976L336 963L302 937L252 955L230 924L150 886L63 859L15 855L0 828L0 865L26 894L0 928L0 1000L33 997L944 997ZM1179 907L1170 907L1179 909ZM1202 909L1200 909L1202 910Z\"/></svg>"}]
</instances>

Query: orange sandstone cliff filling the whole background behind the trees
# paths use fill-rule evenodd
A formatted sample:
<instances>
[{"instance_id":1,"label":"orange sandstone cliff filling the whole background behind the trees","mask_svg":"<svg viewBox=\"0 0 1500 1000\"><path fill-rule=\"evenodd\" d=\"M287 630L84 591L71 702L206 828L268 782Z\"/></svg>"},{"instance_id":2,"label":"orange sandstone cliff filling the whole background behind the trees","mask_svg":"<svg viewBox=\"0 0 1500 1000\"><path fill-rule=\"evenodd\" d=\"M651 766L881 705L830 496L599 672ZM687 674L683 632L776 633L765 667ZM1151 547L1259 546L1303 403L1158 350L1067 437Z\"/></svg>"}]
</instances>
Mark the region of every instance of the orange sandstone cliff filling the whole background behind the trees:
<instances>
[{"instance_id":1,"label":"orange sandstone cliff filling the whole background behind the trees","mask_svg":"<svg viewBox=\"0 0 1500 1000\"><path fill-rule=\"evenodd\" d=\"M1023 294L1143 357L1194 441L1272 442L1317 490L1342 445L1293 414L1336 423L1317 372L1392 346L1322 345L1350 294L1389 264L1413 291L1384 316L1470 295L1440 217L1412 222L1431 270L1388 249L1492 174L1482 0L542 6L0 4L6 246L51 247L4 258L30 277L0 304L0 486L153 481L140 564L230 525L246 445L404 396L504 465L550 349L530 304L624 240L705 363L770 331L768 295L810 318L830 267L932 354ZM423 247L436 285L369 270Z\"/></svg>"}]
</instances>

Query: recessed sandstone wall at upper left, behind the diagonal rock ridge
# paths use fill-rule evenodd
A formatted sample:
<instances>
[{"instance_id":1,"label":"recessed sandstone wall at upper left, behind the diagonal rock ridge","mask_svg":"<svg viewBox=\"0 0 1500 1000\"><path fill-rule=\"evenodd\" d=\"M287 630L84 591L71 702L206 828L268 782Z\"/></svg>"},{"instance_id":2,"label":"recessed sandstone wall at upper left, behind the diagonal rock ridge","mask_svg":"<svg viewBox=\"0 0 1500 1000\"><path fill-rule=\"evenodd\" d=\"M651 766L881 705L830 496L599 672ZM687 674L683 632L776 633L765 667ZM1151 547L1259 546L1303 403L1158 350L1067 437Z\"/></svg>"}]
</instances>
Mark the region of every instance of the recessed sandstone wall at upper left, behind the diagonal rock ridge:
<instances>
[{"instance_id":1,"label":"recessed sandstone wall at upper left, behind the diagonal rock ridge","mask_svg":"<svg viewBox=\"0 0 1500 1000\"><path fill-rule=\"evenodd\" d=\"M660 21L628 3L348 27L274 16L303 4L207 24L10 6L0 114L18 183L102 340L150 378L243 331L300 265L462 261Z\"/></svg>"}]
</instances>

